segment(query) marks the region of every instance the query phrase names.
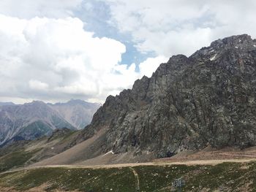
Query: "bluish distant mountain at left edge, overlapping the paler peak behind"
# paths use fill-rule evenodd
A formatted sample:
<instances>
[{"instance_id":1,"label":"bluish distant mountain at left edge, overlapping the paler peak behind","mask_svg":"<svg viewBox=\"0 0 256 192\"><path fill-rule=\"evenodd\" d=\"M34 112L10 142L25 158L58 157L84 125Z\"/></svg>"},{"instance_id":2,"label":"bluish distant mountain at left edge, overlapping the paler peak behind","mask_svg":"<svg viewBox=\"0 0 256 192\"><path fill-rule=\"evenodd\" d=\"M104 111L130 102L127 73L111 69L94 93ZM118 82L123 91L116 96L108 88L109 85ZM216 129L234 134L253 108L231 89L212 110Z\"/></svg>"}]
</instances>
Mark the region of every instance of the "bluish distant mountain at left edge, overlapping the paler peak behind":
<instances>
[{"instance_id":1,"label":"bluish distant mountain at left edge, overlapping the paler peak behind","mask_svg":"<svg viewBox=\"0 0 256 192\"><path fill-rule=\"evenodd\" d=\"M76 129L42 101L0 107L0 145L11 139L35 139L64 127Z\"/></svg>"}]
</instances>

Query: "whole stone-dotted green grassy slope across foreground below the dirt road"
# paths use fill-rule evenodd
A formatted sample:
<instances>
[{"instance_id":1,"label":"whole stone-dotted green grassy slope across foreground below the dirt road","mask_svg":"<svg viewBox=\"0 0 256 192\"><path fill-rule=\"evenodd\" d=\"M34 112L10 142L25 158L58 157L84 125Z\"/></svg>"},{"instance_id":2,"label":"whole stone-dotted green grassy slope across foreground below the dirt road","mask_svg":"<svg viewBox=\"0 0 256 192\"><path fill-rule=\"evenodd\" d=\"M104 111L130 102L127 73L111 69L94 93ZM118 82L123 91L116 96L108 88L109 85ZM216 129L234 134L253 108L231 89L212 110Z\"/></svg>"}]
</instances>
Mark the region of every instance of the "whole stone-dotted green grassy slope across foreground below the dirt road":
<instances>
[{"instance_id":1,"label":"whole stone-dotted green grassy slope across foreground below the dirt road","mask_svg":"<svg viewBox=\"0 0 256 192\"><path fill-rule=\"evenodd\" d=\"M138 174L138 180L134 171ZM132 168L85 169L40 168L0 175L0 185L28 190L47 183L47 191L171 191L178 177L183 191L256 191L256 162L223 163L216 166L135 166Z\"/></svg>"}]
</instances>

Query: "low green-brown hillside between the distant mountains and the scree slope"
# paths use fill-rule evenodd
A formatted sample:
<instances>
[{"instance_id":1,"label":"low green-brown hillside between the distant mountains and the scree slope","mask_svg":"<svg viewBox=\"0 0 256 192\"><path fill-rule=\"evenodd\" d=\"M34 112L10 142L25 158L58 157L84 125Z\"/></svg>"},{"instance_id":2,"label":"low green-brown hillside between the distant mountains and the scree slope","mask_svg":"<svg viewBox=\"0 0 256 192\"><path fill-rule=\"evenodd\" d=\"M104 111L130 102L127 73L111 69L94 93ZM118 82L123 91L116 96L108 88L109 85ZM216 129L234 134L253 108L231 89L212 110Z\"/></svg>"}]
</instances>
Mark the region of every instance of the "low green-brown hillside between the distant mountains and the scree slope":
<instances>
[{"instance_id":1,"label":"low green-brown hillside between the distant mountains and the scree slope","mask_svg":"<svg viewBox=\"0 0 256 192\"><path fill-rule=\"evenodd\" d=\"M57 128L49 136L9 142L0 148L0 172L18 166L28 166L61 153L78 132L68 128Z\"/></svg>"}]
</instances>

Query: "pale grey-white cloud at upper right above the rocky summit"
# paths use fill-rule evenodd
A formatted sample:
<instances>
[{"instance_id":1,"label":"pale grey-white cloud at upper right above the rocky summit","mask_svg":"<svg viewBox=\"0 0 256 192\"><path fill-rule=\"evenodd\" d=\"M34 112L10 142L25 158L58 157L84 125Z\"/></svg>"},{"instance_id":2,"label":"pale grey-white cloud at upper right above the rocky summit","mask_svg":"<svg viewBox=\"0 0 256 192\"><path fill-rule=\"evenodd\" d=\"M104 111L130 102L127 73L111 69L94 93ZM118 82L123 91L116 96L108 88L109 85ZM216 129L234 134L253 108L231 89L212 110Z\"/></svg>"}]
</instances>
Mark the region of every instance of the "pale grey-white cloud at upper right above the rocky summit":
<instances>
[{"instance_id":1,"label":"pale grey-white cloud at upper right above the rocky summit","mask_svg":"<svg viewBox=\"0 0 256 192\"><path fill-rule=\"evenodd\" d=\"M132 35L141 53L190 55L215 39L256 36L256 2L187 0L107 0L110 23Z\"/></svg>"}]
</instances>

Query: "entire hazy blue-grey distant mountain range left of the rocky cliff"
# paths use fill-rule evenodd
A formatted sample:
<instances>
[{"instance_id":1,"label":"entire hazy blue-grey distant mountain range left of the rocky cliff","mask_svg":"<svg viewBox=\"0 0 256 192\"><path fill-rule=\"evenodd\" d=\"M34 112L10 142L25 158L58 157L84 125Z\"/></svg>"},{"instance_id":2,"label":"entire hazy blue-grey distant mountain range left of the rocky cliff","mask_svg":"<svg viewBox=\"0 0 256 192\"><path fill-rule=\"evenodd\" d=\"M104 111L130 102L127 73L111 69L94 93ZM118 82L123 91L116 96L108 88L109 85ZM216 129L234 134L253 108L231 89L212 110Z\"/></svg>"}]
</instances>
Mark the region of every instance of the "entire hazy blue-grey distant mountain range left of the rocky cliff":
<instances>
[{"instance_id":1,"label":"entire hazy blue-grey distant mountain range left of the rocky cliff","mask_svg":"<svg viewBox=\"0 0 256 192\"><path fill-rule=\"evenodd\" d=\"M0 145L12 140L35 139L56 128L72 130L90 123L99 104L72 99L67 103L0 103Z\"/></svg>"}]
</instances>

